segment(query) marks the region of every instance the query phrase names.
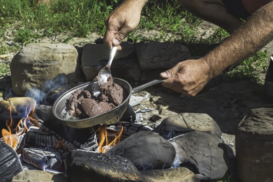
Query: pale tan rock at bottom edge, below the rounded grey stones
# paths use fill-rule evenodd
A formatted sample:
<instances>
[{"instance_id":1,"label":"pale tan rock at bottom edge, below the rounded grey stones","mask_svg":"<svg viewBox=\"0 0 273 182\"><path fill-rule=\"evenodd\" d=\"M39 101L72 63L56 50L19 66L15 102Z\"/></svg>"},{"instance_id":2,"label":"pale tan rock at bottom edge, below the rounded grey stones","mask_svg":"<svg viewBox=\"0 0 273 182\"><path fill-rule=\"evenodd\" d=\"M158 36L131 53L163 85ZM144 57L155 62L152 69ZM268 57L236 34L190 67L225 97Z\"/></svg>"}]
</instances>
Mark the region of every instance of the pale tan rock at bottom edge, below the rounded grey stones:
<instances>
[{"instance_id":1,"label":"pale tan rock at bottom edge, below the rounded grey stones","mask_svg":"<svg viewBox=\"0 0 273 182\"><path fill-rule=\"evenodd\" d=\"M200 182L196 175L185 167L140 171L140 174L147 182Z\"/></svg>"}]
</instances>

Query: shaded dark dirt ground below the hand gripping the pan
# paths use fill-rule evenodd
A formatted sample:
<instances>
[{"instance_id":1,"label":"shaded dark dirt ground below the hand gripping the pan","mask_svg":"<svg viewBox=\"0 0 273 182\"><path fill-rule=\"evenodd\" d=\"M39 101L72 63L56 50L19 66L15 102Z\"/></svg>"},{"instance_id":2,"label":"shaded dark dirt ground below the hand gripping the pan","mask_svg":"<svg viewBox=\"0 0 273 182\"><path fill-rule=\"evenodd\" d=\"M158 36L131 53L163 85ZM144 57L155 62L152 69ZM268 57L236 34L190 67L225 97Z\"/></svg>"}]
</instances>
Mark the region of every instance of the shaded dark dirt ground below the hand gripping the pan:
<instances>
[{"instance_id":1,"label":"shaded dark dirt ground below the hand gripping the pan","mask_svg":"<svg viewBox=\"0 0 273 182\"><path fill-rule=\"evenodd\" d=\"M226 134L235 135L241 119L254 108L273 107L263 92L263 85L251 80L229 82L225 76L218 76L196 96L187 97L161 85L145 91L160 96L156 102L169 106L175 113L206 113L211 116Z\"/></svg>"}]
</instances>

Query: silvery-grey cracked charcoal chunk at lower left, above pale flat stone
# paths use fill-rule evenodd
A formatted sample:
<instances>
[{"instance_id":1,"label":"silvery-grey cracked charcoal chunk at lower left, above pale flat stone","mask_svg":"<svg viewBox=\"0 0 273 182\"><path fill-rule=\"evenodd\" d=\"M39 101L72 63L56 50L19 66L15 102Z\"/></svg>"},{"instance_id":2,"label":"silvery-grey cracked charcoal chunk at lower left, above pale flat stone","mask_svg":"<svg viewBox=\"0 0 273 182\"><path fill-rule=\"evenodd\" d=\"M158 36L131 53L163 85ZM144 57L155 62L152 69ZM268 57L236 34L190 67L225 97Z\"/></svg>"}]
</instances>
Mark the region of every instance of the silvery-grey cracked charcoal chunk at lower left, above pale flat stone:
<instances>
[{"instance_id":1,"label":"silvery-grey cracked charcoal chunk at lower left, above pale flat stone","mask_svg":"<svg viewBox=\"0 0 273 182\"><path fill-rule=\"evenodd\" d=\"M62 165L61 155L54 150L24 148L22 151L22 159L25 162L38 167L40 170L58 170Z\"/></svg>"}]
</instances>

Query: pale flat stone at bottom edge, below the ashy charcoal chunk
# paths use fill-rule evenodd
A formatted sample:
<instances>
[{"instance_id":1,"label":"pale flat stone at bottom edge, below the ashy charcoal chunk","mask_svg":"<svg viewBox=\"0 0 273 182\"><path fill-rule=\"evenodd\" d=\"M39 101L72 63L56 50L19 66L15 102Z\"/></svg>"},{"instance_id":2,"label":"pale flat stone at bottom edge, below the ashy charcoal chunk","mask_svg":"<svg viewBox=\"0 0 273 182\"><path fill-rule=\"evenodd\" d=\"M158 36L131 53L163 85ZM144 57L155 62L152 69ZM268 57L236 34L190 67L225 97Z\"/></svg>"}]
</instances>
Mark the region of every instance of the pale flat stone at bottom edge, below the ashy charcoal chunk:
<instances>
[{"instance_id":1,"label":"pale flat stone at bottom edge, below the ashy charcoal chunk","mask_svg":"<svg viewBox=\"0 0 273 182\"><path fill-rule=\"evenodd\" d=\"M68 182L62 174L51 173L43 170L22 171L13 177L11 182Z\"/></svg>"}]
</instances>

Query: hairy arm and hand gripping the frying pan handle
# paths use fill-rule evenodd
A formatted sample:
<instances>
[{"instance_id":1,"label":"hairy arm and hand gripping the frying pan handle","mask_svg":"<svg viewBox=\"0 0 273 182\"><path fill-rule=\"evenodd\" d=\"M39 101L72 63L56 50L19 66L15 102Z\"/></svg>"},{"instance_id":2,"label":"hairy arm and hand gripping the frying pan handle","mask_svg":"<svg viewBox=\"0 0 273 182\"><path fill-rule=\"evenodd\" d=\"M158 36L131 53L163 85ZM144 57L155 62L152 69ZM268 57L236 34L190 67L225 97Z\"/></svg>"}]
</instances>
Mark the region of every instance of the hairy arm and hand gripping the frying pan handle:
<instances>
[{"instance_id":1,"label":"hairy arm and hand gripping the frying pan handle","mask_svg":"<svg viewBox=\"0 0 273 182\"><path fill-rule=\"evenodd\" d=\"M273 39L273 2L261 7L221 45L198 60L179 62L160 73L162 85L195 96L228 66L254 55Z\"/></svg>"}]
</instances>

